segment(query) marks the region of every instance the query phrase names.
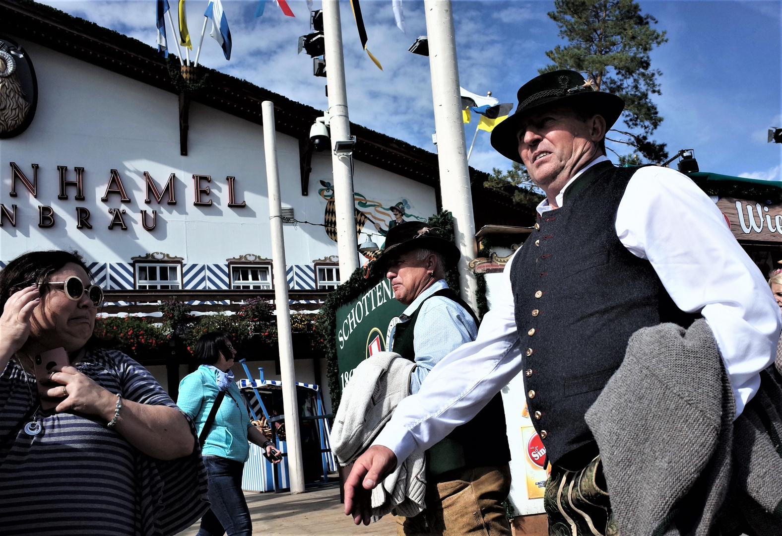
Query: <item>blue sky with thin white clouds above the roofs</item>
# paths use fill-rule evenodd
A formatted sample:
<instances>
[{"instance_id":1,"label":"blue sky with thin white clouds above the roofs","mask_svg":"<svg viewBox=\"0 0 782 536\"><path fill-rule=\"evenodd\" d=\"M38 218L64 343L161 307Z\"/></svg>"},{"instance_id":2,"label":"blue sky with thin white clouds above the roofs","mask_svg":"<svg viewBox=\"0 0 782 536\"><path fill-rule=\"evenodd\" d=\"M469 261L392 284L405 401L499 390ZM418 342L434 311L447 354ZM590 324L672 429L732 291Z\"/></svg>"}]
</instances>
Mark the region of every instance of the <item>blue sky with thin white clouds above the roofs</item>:
<instances>
[{"instance_id":1,"label":"blue sky with thin white clouds above the roofs","mask_svg":"<svg viewBox=\"0 0 782 536\"><path fill-rule=\"evenodd\" d=\"M155 44L151 0L45 3ZM194 44L206 4L187 2ZM253 18L257 2L223 0L223 5L233 37L231 60L224 59L207 30L200 63L325 110L325 78L312 76L308 56L296 55L298 36L309 30L307 4L289 0L296 14L291 18L267 0L258 19ZM654 138L666 142L672 154L695 149L701 171L782 180L782 145L766 143L767 129L782 127L782 2L651 0L640 6L658 19L658 30L667 31L669 39L651 54L652 66L662 70L662 95L654 100L665 117ZM319 7L316 0L314 9ZM434 150L429 62L407 52L426 34L423 2L404 0L407 34L396 27L390 0L362 2L368 49L383 71L361 49L350 4L341 2L341 8L351 121ZM545 52L565 44L546 14L551 9L548 1L454 2L461 85L479 94L490 90L500 102L515 104L518 88L549 63ZM465 131L469 143L475 119ZM470 164L484 171L510 167L484 131Z\"/></svg>"}]
</instances>

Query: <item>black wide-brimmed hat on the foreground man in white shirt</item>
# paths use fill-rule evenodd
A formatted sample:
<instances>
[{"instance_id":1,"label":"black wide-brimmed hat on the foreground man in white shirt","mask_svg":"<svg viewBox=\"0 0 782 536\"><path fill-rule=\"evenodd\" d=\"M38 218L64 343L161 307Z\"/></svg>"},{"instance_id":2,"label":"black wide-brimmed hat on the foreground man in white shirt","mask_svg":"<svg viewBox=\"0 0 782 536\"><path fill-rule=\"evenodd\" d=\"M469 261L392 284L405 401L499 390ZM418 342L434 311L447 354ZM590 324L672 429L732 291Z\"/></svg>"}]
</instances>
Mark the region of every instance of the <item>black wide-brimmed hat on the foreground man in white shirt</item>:
<instances>
[{"instance_id":1,"label":"black wide-brimmed hat on the foreground man in white shirt","mask_svg":"<svg viewBox=\"0 0 782 536\"><path fill-rule=\"evenodd\" d=\"M625 108L621 97L598 92L594 82L584 80L575 70L554 70L544 73L522 85L516 94L518 107L505 121L494 127L491 145L497 153L516 162L522 162L518 154L518 134L522 121L531 113L553 106L570 106L574 110L590 110L603 116L608 130L619 119Z\"/></svg>"}]
</instances>

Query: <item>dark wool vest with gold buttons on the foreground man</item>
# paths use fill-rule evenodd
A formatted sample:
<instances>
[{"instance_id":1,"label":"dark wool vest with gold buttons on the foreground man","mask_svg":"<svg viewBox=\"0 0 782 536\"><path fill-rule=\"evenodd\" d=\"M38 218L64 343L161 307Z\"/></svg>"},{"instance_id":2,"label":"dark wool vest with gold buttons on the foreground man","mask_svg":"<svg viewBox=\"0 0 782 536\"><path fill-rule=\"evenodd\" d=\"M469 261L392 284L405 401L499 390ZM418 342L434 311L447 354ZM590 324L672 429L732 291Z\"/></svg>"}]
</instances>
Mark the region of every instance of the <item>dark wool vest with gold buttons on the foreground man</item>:
<instances>
[{"instance_id":1,"label":"dark wool vest with gold buttons on the foreground man","mask_svg":"<svg viewBox=\"0 0 782 536\"><path fill-rule=\"evenodd\" d=\"M621 365L630 336L695 318L616 236L619 201L637 169L590 167L565 190L563 207L538 215L511 268L527 408L548 461L565 469L597 455L584 414Z\"/></svg>"}]
</instances>

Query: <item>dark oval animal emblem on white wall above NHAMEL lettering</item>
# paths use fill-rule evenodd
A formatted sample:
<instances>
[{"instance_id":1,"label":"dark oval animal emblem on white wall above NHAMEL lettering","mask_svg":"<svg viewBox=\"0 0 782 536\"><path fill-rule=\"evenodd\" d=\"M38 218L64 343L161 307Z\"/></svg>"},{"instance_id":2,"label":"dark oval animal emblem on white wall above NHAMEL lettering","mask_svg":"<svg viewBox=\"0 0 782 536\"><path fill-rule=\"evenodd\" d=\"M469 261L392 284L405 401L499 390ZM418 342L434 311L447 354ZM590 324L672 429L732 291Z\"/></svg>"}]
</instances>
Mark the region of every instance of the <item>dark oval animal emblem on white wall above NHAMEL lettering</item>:
<instances>
[{"instance_id":1,"label":"dark oval animal emblem on white wall above NHAMEL lettering","mask_svg":"<svg viewBox=\"0 0 782 536\"><path fill-rule=\"evenodd\" d=\"M27 52L0 38L0 138L13 138L30 126L38 105L38 81Z\"/></svg>"}]
</instances>

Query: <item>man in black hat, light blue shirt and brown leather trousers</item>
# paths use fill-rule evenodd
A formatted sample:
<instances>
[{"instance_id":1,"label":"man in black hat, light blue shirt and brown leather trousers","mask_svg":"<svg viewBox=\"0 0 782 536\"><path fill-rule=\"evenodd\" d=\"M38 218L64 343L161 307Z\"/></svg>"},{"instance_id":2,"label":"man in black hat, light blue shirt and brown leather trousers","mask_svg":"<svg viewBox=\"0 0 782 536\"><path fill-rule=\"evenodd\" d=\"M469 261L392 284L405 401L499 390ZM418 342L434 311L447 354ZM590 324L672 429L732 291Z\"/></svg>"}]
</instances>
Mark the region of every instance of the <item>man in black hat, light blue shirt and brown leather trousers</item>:
<instances>
[{"instance_id":1,"label":"man in black hat, light blue shirt and brown leather trousers","mask_svg":"<svg viewBox=\"0 0 782 536\"><path fill-rule=\"evenodd\" d=\"M418 392L440 360L478 333L475 313L445 282L446 270L459 257L453 243L434 236L425 223L410 221L389 229L378 258L394 297L407 305L392 320L388 342L390 351L417 365L410 379L411 394ZM476 448L476 441L491 448ZM510 459L505 413L497 394L475 419L429 448L426 509L414 517L397 516L397 534L458 536L486 527L490 534L510 536L502 504L511 486Z\"/></svg>"}]
</instances>

